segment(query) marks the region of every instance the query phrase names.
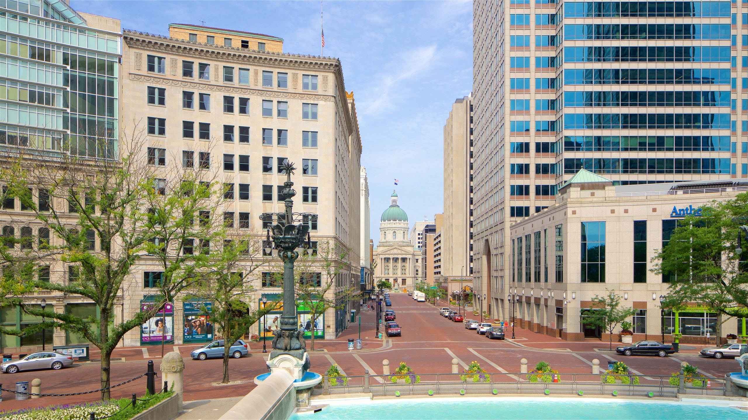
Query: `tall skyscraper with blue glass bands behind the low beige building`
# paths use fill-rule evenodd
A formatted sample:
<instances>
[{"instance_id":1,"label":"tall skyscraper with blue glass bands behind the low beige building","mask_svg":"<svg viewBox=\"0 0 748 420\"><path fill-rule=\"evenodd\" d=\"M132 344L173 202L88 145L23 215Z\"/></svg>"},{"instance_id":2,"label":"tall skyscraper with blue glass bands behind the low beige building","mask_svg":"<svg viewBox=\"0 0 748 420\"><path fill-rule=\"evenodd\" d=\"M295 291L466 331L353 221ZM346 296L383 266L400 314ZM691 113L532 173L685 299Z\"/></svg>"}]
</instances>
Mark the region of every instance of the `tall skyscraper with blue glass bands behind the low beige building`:
<instances>
[{"instance_id":1,"label":"tall skyscraper with blue glass bands behind the low beige building","mask_svg":"<svg viewBox=\"0 0 748 420\"><path fill-rule=\"evenodd\" d=\"M474 289L494 316L510 225L580 170L748 176L747 26L740 1L473 1Z\"/></svg>"}]
</instances>

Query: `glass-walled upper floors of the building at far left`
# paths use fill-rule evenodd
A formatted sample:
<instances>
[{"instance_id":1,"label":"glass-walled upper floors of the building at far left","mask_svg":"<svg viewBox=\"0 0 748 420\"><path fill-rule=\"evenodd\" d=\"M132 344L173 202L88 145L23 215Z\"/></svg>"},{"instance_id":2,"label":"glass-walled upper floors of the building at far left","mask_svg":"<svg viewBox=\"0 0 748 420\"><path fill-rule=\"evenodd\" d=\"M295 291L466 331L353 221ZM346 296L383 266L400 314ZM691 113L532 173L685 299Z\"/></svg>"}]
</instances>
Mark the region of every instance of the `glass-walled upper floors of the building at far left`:
<instances>
[{"instance_id":1,"label":"glass-walled upper floors of the building at far left","mask_svg":"<svg viewBox=\"0 0 748 420\"><path fill-rule=\"evenodd\" d=\"M121 40L67 1L0 0L0 148L116 158Z\"/></svg>"}]
</instances>

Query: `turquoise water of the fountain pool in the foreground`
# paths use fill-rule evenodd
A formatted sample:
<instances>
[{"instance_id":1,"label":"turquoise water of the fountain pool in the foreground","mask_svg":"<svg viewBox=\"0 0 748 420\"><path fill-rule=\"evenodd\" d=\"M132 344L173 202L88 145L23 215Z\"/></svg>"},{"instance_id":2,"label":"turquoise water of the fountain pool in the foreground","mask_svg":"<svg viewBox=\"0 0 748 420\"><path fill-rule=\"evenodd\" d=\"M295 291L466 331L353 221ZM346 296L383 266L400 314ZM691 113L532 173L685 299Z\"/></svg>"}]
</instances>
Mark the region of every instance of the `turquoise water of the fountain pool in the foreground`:
<instances>
[{"instance_id":1,"label":"turquoise water of the fountain pool in the foreground","mask_svg":"<svg viewBox=\"0 0 748 420\"><path fill-rule=\"evenodd\" d=\"M747 419L735 407L669 402L571 400L562 398L441 398L333 402L321 412L292 420L392 419Z\"/></svg>"}]
</instances>

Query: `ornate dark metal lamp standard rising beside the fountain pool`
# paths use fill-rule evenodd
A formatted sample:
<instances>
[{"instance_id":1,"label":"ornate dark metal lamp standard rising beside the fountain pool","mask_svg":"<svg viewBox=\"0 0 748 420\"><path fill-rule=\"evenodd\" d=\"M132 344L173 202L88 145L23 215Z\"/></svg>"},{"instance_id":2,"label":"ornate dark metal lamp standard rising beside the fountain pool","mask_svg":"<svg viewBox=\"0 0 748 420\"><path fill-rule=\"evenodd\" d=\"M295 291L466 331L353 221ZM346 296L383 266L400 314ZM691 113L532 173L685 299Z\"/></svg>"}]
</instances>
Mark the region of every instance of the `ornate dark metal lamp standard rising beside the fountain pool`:
<instances>
[{"instance_id":1,"label":"ornate dark metal lamp standard rising beside the fountain pool","mask_svg":"<svg viewBox=\"0 0 748 420\"><path fill-rule=\"evenodd\" d=\"M270 222L269 231L272 230L272 241L270 232L268 232L265 251L272 253L272 250L278 250L278 256L283 261L283 314L281 315L281 327L273 331L275 337L272 341L272 351L270 352L270 362L278 356L289 355L303 362L301 375L309 368L309 359L306 354L307 346L304 342L304 330L298 329L298 320L296 315L295 287L293 268L294 262L298 258L296 249L302 244L305 248L310 247L309 225L304 223L307 220L316 220L316 214L311 213L294 213L292 197L296 195L293 190L291 175L296 168L289 161L285 161L281 170L286 173L286 182L283 182L283 191L281 195L286 197L285 211L280 213L263 213L260 220L264 223ZM294 224L297 222L297 224ZM306 242L306 243L304 243ZM272 367L272 366L271 366ZM298 379L298 378L297 378Z\"/></svg>"}]
</instances>

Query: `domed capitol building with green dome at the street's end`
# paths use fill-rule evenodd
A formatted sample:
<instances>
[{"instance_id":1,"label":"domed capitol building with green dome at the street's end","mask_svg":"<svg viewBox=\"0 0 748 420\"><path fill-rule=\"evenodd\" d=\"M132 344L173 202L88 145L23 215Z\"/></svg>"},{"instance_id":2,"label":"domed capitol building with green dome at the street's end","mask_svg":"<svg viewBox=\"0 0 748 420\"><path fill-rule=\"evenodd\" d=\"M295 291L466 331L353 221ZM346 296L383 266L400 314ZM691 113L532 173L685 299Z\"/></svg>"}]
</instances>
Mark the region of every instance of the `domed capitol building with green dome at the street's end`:
<instances>
[{"instance_id":1,"label":"domed capitol building with green dome at the street's end","mask_svg":"<svg viewBox=\"0 0 748 420\"><path fill-rule=\"evenodd\" d=\"M397 204L397 193L392 191L390 207L381 214L379 243L374 249L374 284L387 280L396 291L414 288L421 276L421 251L408 238L408 214Z\"/></svg>"}]
</instances>

